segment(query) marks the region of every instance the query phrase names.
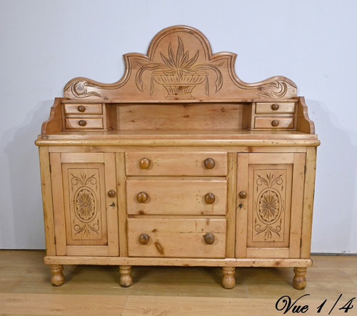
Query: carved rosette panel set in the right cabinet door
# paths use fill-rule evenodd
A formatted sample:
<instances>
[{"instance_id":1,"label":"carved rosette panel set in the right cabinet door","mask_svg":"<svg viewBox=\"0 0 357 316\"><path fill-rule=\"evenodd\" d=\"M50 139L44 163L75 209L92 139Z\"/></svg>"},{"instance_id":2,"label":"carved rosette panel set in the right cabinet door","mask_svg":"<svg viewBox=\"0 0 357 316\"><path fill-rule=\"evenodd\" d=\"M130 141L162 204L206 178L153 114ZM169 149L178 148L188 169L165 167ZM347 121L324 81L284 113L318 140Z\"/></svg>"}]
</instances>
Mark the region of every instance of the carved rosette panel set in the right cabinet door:
<instances>
[{"instance_id":1,"label":"carved rosette panel set in the right cabinet door","mask_svg":"<svg viewBox=\"0 0 357 316\"><path fill-rule=\"evenodd\" d=\"M253 242L283 242L286 170L254 170Z\"/></svg>"}]
</instances>

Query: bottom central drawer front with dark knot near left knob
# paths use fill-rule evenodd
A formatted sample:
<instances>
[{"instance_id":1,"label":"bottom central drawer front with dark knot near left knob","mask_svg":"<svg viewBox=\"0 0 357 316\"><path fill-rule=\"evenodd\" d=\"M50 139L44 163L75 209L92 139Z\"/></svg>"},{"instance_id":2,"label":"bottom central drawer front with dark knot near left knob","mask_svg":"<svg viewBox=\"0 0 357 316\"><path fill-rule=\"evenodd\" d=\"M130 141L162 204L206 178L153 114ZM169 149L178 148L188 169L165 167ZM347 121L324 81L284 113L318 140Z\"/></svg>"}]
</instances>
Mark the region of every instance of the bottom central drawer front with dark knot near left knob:
<instances>
[{"instance_id":1,"label":"bottom central drawer front with dark knot near left knob","mask_svg":"<svg viewBox=\"0 0 357 316\"><path fill-rule=\"evenodd\" d=\"M131 257L225 258L226 220L129 218L128 251Z\"/></svg>"}]
</instances>

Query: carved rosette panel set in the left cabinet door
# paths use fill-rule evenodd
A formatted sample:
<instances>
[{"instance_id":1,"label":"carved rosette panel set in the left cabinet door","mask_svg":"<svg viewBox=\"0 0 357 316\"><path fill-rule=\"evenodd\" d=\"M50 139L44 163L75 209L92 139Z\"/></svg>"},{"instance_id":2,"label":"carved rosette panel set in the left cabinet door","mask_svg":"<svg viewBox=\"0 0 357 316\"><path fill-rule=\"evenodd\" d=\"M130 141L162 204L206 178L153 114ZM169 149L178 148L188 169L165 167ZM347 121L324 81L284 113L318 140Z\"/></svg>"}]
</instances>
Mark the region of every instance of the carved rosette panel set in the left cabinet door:
<instances>
[{"instance_id":1,"label":"carved rosette panel set in the left cabinet door","mask_svg":"<svg viewBox=\"0 0 357 316\"><path fill-rule=\"evenodd\" d=\"M72 240L101 240L101 188L98 169L69 169Z\"/></svg>"}]
</instances>

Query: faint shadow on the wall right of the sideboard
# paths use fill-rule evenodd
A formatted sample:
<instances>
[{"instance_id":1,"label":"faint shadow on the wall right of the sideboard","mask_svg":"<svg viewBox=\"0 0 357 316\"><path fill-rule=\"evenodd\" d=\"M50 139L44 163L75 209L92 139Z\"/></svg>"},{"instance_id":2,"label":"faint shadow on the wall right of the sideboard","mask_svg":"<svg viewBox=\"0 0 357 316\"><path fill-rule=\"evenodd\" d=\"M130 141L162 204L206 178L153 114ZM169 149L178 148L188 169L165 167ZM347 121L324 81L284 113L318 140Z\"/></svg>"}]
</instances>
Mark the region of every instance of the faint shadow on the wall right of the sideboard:
<instances>
[{"instance_id":1,"label":"faint shadow on the wall right of the sideboard","mask_svg":"<svg viewBox=\"0 0 357 316\"><path fill-rule=\"evenodd\" d=\"M357 148L351 143L351 135L355 134L357 139L357 134L343 128L323 103L306 100L306 104L321 141L317 153L311 252L357 253L356 243L352 243L353 234L357 238L353 227L353 216L357 222L357 213L353 211Z\"/></svg>"}]
</instances>

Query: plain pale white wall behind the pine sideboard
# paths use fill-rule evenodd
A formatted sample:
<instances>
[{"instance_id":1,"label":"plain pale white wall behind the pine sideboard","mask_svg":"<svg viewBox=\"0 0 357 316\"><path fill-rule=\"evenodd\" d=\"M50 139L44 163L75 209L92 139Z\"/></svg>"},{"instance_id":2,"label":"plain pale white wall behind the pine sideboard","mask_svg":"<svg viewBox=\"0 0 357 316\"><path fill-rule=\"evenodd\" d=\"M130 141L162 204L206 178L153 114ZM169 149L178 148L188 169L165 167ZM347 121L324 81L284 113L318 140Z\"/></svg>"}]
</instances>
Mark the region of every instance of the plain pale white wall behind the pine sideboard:
<instances>
[{"instance_id":1,"label":"plain pale white wall behind the pine sideboard","mask_svg":"<svg viewBox=\"0 0 357 316\"><path fill-rule=\"evenodd\" d=\"M357 2L0 0L0 248L44 248L34 140L76 76L111 83L122 55L167 26L196 27L238 53L246 82L291 78L318 148L314 253L357 253Z\"/></svg>"}]
</instances>

